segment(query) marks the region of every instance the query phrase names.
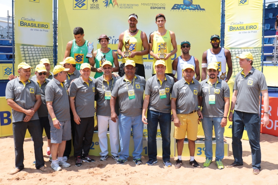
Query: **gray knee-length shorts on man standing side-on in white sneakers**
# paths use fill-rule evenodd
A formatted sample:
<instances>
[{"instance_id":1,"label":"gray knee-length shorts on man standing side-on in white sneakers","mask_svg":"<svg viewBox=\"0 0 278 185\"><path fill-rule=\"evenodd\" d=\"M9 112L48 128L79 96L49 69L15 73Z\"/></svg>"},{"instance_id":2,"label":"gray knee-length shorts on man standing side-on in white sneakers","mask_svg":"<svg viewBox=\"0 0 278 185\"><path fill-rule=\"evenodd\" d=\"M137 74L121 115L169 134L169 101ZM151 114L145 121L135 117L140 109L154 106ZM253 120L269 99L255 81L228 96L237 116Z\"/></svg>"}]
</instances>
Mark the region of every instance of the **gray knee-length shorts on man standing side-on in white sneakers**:
<instances>
[{"instance_id":1,"label":"gray knee-length shorts on man standing side-on in white sneakers","mask_svg":"<svg viewBox=\"0 0 278 185\"><path fill-rule=\"evenodd\" d=\"M51 143L61 143L71 139L71 125L70 120L60 121L60 129L53 126L53 121L50 122L50 138Z\"/></svg>"}]
</instances>

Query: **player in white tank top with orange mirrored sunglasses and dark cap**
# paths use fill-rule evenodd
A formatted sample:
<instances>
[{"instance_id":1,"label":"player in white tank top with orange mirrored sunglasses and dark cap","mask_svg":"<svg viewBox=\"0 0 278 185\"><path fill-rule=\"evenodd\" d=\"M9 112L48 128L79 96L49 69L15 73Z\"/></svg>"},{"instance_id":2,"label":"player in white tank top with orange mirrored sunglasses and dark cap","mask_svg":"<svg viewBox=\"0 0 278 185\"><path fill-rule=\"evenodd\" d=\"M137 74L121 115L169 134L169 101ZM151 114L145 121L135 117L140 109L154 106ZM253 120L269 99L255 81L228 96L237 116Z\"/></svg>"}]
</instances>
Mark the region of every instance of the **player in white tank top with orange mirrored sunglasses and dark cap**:
<instances>
[{"instance_id":1,"label":"player in white tank top with orange mirrored sunglasses and dark cap","mask_svg":"<svg viewBox=\"0 0 278 185\"><path fill-rule=\"evenodd\" d=\"M228 82L233 73L232 55L229 50L219 47L221 42L219 35L212 35L210 40L212 48L205 51L202 56L202 80L207 78L208 64L216 62L219 70L217 76ZM226 71L226 64L228 71Z\"/></svg>"}]
</instances>

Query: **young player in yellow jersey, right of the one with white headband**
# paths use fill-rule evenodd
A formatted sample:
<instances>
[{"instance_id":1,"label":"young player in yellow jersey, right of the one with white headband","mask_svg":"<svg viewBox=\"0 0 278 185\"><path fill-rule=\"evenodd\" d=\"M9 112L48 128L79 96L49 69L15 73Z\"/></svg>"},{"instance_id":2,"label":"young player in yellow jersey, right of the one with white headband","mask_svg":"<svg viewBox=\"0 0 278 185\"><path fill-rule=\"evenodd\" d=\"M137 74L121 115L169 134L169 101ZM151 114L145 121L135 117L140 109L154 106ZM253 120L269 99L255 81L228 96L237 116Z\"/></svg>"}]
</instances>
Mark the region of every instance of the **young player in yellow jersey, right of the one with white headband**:
<instances>
[{"instance_id":1,"label":"young player in yellow jersey, right of the one with white headband","mask_svg":"<svg viewBox=\"0 0 278 185\"><path fill-rule=\"evenodd\" d=\"M178 51L176 36L173 31L166 30L164 25L166 23L165 16L163 14L157 14L155 17L155 23L158 26L158 30L150 34L149 37L149 46L150 46L150 55L154 57L153 61L153 76L156 73L154 70L156 60L162 60L159 58L160 54L160 45L166 43L164 50L164 59L166 63L165 74L173 76L172 70L172 61L171 56L175 55ZM171 45L173 46L173 51L171 51Z\"/></svg>"}]
</instances>

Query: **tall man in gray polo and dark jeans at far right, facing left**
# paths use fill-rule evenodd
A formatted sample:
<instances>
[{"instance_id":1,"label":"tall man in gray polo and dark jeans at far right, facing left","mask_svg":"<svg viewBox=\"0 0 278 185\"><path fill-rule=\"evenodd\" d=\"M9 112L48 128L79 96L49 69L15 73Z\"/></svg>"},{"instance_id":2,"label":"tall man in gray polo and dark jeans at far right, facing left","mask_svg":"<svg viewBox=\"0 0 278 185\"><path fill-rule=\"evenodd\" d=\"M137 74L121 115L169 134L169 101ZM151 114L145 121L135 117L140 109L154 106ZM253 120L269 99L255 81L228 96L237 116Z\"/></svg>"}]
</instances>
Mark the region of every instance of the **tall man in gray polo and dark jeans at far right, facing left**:
<instances>
[{"instance_id":1,"label":"tall man in gray polo and dark jeans at far right, facing left","mask_svg":"<svg viewBox=\"0 0 278 185\"><path fill-rule=\"evenodd\" d=\"M260 147L260 116L259 101L260 93L263 96L264 114L263 126L269 124L268 117L268 92L267 83L262 72L252 67L253 56L249 52L243 52L239 58L239 65L243 69L235 77L234 93L230 108L229 120L232 125L232 148L234 162L227 167L242 166L242 134L246 128L252 154L253 174L257 175L261 169L261 147ZM234 110L234 114L233 114Z\"/></svg>"}]
</instances>

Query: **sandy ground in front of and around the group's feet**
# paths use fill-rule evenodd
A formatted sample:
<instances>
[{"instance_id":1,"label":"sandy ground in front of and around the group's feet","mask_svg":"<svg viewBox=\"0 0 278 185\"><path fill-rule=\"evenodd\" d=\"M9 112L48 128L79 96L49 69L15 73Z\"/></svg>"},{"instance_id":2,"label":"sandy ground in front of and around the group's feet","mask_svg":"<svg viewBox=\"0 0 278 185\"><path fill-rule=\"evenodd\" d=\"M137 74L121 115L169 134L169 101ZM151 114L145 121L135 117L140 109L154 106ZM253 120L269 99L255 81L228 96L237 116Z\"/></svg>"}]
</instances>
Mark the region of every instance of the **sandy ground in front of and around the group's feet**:
<instances>
[{"instance_id":1,"label":"sandy ground in front of and around the group's feet","mask_svg":"<svg viewBox=\"0 0 278 185\"><path fill-rule=\"evenodd\" d=\"M228 143L231 138L226 138ZM99 156L91 156L96 162L83 162L82 167L75 167L74 157L71 156L68 162L69 168L62 171L53 171L48 162L48 156L44 155L45 165L48 172L36 170L32 165L34 161L33 142L26 138L24 142L24 165L25 168L15 175L9 172L15 166L15 151L13 137L0 138L0 184L278 184L278 137L261 134L262 163L259 175L252 174L252 158L249 141L242 140L243 145L243 166L234 168L224 168L217 170L215 162L204 168L205 158L195 157L202 168L194 168L189 165L189 158L183 157L183 164L180 169L165 167L162 158L158 158L158 163L153 166L139 165L132 162L132 157L124 165L117 165L114 159L109 157L105 162L99 161ZM43 151L46 152L47 141L44 137ZM176 159L176 158L175 158ZM143 156L142 161L148 161L148 157ZM175 163L171 158L172 164ZM234 162L232 147L230 145L230 156L224 157L223 164L229 165Z\"/></svg>"}]
</instances>

